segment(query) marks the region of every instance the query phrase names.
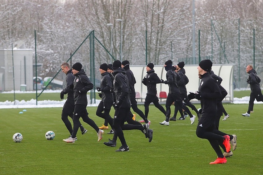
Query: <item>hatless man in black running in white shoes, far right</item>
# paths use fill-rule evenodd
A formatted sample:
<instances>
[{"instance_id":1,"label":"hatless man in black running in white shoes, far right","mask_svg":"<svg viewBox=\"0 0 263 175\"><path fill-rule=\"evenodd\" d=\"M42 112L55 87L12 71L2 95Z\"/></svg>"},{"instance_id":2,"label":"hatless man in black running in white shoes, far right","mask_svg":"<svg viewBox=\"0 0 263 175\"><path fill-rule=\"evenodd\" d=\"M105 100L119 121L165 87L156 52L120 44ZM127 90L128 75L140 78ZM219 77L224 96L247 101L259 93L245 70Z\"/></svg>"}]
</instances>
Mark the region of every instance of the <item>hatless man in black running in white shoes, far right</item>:
<instances>
[{"instance_id":1,"label":"hatless man in black running in white shoes, far right","mask_svg":"<svg viewBox=\"0 0 263 175\"><path fill-rule=\"evenodd\" d=\"M246 68L246 71L248 73L247 82L250 85L251 93L249 98L248 112L242 114L242 116L249 117L250 112L253 111L254 100L256 99L257 101L263 101L263 95L259 86L261 80L257 76L257 72L253 69L253 66L249 64Z\"/></svg>"}]
</instances>

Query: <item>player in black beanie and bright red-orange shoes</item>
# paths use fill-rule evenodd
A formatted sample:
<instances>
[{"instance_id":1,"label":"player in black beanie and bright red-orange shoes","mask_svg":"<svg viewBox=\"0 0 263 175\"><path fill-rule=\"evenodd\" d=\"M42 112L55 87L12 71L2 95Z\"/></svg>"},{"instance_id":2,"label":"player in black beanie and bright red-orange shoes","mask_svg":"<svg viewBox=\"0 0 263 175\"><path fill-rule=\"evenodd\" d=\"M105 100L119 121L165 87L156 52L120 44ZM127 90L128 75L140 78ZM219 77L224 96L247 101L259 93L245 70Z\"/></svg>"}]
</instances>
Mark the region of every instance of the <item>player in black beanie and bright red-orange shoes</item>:
<instances>
[{"instance_id":1,"label":"player in black beanie and bright red-orange shoes","mask_svg":"<svg viewBox=\"0 0 263 175\"><path fill-rule=\"evenodd\" d=\"M223 144L226 151L230 151L230 137L228 135L221 136L215 134L215 116L217 113L217 99L221 98L222 94L215 79L209 75L212 62L209 59L202 60L198 66L198 74L201 76L200 85L198 88L198 94L194 95L194 98L201 102L201 118L198 122L196 135L199 138L207 139L212 148L217 154L217 159L210 164L222 164L226 163L227 159L224 157L219 144ZM192 98L190 98L192 99Z\"/></svg>"}]
</instances>

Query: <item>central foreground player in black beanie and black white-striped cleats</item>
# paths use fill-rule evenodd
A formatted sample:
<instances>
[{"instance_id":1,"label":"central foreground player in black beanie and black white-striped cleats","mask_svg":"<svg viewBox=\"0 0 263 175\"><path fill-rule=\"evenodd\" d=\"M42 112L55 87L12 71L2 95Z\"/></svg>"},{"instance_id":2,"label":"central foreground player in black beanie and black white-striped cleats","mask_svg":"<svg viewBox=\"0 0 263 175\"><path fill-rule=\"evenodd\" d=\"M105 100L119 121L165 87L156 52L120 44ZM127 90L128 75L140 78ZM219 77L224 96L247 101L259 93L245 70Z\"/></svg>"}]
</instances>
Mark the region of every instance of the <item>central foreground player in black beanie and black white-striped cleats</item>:
<instances>
[{"instance_id":1,"label":"central foreground player in black beanie and black white-striped cleats","mask_svg":"<svg viewBox=\"0 0 263 175\"><path fill-rule=\"evenodd\" d=\"M133 124L125 124L126 118L128 116L128 112L131 108L131 100L130 100L130 88L129 88L129 81L127 76L125 75L126 71L121 68L121 62L119 60L116 60L113 62L113 74L114 76L114 92L116 95L116 103L114 105L115 107L115 113L114 113L114 119L113 119L113 127L114 127L114 134L116 134L120 141L121 141L121 147L115 151L122 152L122 151L129 151L129 147L126 143L126 140L123 135L123 128L126 128L126 130L131 129L138 129L144 132L145 136L148 136L148 126L147 124L144 125L133 125ZM108 144L112 145L108 145ZM115 147L116 143L111 142L104 142L107 146Z\"/></svg>"}]
</instances>

